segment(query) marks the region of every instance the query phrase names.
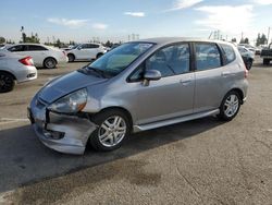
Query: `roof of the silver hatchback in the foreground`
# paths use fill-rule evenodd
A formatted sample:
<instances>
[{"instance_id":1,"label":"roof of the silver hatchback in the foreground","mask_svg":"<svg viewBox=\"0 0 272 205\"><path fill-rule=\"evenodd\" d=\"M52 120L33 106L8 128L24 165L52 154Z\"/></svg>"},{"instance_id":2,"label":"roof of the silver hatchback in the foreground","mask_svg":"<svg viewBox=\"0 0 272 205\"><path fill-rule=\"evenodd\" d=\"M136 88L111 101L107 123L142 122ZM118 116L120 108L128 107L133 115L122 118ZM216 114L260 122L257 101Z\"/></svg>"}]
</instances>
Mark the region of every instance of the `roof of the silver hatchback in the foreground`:
<instances>
[{"instance_id":1,"label":"roof of the silver hatchback in the foreground","mask_svg":"<svg viewBox=\"0 0 272 205\"><path fill-rule=\"evenodd\" d=\"M135 41L153 43L158 45L172 44L176 41L207 41L207 43L231 44L231 43L223 41L223 40L211 40L211 39L189 38L189 37L158 37L158 38L140 39L140 40L135 40Z\"/></svg>"}]
</instances>

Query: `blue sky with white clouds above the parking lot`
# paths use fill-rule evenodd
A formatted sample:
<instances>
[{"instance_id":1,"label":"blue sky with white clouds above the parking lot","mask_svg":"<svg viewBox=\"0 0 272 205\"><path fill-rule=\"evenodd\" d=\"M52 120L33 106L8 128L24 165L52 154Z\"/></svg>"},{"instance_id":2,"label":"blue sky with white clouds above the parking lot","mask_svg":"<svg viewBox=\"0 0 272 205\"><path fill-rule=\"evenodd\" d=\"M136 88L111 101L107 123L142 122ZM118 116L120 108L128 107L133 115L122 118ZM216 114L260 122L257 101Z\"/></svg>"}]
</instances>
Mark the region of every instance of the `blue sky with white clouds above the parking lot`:
<instances>
[{"instance_id":1,"label":"blue sky with white clouds above the parking lot","mask_svg":"<svg viewBox=\"0 0 272 205\"><path fill-rule=\"evenodd\" d=\"M272 0L1 1L0 36L18 41L21 26L42 43L127 41L132 34L208 38L218 29L224 39L239 40L243 33L254 43L269 27L272 37Z\"/></svg>"}]
</instances>

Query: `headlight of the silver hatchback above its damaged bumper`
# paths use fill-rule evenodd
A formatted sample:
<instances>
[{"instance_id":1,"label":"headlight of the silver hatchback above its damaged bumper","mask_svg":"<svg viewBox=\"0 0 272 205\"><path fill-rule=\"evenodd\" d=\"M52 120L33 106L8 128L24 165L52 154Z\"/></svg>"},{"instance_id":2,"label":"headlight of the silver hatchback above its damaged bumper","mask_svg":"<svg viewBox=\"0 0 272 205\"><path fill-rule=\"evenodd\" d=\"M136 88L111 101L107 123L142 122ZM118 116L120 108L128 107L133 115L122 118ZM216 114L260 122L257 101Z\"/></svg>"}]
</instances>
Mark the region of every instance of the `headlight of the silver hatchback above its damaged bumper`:
<instances>
[{"instance_id":1,"label":"headlight of the silver hatchback above its damaged bumper","mask_svg":"<svg viewBox=\"0 0 272 205\"><path fill-rule=\"evenodd\" d=\"M82 111L86 104L87 89L83 88L58 99L48 109L61 113L76 113Z\"/></svg>"}]
</instances>

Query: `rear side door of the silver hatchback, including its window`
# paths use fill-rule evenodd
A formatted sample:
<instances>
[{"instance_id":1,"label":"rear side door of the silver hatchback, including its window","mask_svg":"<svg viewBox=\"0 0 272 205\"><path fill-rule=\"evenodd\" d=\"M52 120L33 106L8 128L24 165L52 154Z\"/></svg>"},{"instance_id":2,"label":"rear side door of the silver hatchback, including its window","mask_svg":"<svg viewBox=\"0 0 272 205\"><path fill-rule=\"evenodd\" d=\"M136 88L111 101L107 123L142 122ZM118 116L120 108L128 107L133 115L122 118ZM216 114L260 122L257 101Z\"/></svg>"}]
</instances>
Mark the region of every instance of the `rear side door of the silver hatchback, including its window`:
<instances>
[{"instance_id":1,"label":"rear side door of the silver hatchback, including its window","mask_svg":"<svg viewBox=\"0 0 272 205\"><path fill-rule=\"evenodd\" d=\"M213 43L195 43L196 89L194 112L220 107L225 95L225 83L230 74L223 68L220 47Z\"/></svg>"}]
</instances>

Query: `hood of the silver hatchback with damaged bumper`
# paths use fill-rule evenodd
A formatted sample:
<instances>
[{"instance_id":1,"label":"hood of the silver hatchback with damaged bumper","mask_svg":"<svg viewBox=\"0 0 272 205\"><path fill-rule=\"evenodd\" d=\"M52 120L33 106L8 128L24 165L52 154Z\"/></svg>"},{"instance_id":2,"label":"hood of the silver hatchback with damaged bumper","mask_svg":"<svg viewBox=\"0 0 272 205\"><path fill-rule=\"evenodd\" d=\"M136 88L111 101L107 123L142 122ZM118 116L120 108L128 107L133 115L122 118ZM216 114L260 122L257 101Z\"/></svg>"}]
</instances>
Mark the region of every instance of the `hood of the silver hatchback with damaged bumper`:
<instances>
[{"instance_id":1,"label":"hood of the silver hatchback with damaged bumper","mask_svg":"<svg viewBox=\"0 0 272 205\"><path fill-rule=\"evenodd\" d=\"M92 75L86 75L74 71L61 77L53 79L44 86L38 97L48 104L51 104L62 96L65 96L76 89L88 87L98 83L102 83L107 79L99 79Z\"/></svg>"}]
</instances>

